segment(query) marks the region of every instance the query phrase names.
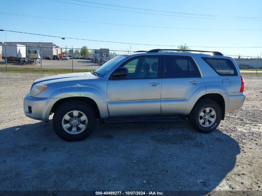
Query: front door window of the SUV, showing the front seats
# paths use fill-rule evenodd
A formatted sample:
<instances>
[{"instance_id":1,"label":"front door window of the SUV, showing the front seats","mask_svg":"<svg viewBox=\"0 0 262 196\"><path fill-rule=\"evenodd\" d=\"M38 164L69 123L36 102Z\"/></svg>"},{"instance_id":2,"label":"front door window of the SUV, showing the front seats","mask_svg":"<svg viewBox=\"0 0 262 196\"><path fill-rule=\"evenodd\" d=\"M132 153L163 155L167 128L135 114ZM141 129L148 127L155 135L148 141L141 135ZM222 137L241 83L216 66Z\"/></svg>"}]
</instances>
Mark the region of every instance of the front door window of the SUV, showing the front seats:
<instances>
[{"instance_id":1,"label":"front door window of the SUV, showing the front seats","mask_svg":"<svg viewBox=\"0 0 262 196\"><path fill-rule=\"evenodd\" d=\"M140 56L123 63L121 67L128 69L126 78L141 79L141 78L157 78L158 75L158 57Z\"/></svg>"}]
</instances>

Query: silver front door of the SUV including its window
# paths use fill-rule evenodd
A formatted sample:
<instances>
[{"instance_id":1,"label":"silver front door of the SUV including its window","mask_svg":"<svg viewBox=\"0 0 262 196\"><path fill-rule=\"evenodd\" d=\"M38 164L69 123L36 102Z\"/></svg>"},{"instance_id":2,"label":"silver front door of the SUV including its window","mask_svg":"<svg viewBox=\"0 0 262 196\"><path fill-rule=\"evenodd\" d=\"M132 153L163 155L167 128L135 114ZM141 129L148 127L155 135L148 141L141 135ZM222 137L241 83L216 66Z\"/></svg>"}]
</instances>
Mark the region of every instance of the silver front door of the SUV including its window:
<instances>
[{"instance_id":1,"label":"silver front door of the SUV including its window","mask_svg":"<svg viewBox=\"0 0 262 196\"><path fill-rule=\"evenodd\" d=\"M108 81L110 117L161 114L161 66L158 55L139 56L119 67L128 69L125 78Z\"/></svg>"}]
</instances>

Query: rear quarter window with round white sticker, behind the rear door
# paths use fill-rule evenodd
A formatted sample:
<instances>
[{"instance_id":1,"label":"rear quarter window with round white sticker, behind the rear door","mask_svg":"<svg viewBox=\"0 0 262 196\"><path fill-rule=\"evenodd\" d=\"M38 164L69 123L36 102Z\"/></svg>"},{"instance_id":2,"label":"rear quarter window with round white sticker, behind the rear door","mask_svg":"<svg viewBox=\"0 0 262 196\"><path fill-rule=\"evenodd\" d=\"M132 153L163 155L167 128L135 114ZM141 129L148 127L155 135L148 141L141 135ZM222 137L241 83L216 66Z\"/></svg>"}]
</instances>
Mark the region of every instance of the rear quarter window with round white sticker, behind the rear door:
<instances>
[{"instance_id":1,"label":"rear quarter window with round white sticker, behind the rear door","mask_svg":"<svg viewBox=\"0 0 262 196\"><path fill-rule=\"evenodd\" d=\"M238 76L237 69L230 59L201 57L218 75Z\"/></svg>"}]
</instances>

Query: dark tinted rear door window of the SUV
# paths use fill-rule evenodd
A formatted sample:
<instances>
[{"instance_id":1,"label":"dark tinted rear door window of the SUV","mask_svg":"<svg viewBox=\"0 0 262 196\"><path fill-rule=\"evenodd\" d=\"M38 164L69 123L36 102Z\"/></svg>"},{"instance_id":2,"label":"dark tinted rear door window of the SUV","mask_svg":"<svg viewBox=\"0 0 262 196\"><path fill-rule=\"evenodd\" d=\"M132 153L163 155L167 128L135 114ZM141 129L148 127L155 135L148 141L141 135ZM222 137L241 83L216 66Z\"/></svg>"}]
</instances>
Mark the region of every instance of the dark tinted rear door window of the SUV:
<instances>
[{"instance_id":1,"label":"dark tinted rear door window of the SUV","mask_svg":"<svg viewBox=\"0 0 262 196\"><path fill-rule=\"evenodd\" d=\"M165 56L163 78L200 77L193 59L187 56Z\"/></svg>"}]
</instances>

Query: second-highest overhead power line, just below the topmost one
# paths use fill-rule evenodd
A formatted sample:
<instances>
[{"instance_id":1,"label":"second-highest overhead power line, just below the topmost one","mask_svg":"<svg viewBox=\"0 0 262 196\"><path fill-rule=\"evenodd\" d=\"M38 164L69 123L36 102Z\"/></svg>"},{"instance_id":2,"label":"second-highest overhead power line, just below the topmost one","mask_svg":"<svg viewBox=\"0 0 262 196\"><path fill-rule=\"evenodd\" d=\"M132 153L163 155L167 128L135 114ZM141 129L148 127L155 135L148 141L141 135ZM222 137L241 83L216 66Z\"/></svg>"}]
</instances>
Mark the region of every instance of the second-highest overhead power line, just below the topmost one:
<instances>
[{"instance_id":1,"label":"second-highest overhead power line, just below the topmost one","mask_svg":"<svg viewBox=\"0 0 262 196\"><path fill-rule=\"evenodd\" d=\"M157 13L149 13L149 12L142 12L142 11L120 10L120 9L114 9L114 8L108 8L108 7L90 6L90 5L84 5L84 4L79 4L79 3L63 2L63 1L57 1L57 0L49 0L49 1L55 1L55 2L60 2L60 3L69 3L69 4L73 4L73 5L80 5L80 6L87 6L87 7L96 7L96 8L109 9L109 10L118 10L118 11L128 11L128 12L135 12L135 13L142 13L142 14L151 14L151 15L164 15L164 16L174 16L174 17L183 17L183 18L199 18L199 19L213 19L213 20L262 21L262 20L220 19L220 18L204 18L204 17L194 17L194 16L179 16L179 15L168 15L168 14L157 14Z\"/></svg>"}]
</instances>

